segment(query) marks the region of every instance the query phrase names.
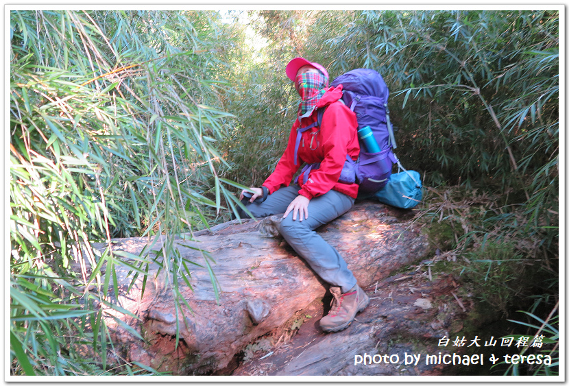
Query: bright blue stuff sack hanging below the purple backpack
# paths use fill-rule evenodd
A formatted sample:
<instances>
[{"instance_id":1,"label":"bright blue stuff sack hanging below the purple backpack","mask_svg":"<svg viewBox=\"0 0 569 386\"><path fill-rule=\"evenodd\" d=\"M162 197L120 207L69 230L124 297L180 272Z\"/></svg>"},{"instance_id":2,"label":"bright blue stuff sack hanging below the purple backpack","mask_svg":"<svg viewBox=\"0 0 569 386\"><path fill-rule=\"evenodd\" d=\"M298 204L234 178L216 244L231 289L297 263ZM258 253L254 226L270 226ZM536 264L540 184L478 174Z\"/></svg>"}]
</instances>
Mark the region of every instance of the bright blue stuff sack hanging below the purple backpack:
<instances>
[{"instance_id":1,"label":"bright blue stuff sack hanging below the purple backpack","mask_svg":"<svg viewBox=\"0 0 569 386\"><path fill-rule=\"evenodd\" d=\"M398 166L402 171L392 173L387 184L374 196L383 204L410 209L423 198L421 175L414 170L405 170L399 162Z\"/></svg>"}]
</instances>

